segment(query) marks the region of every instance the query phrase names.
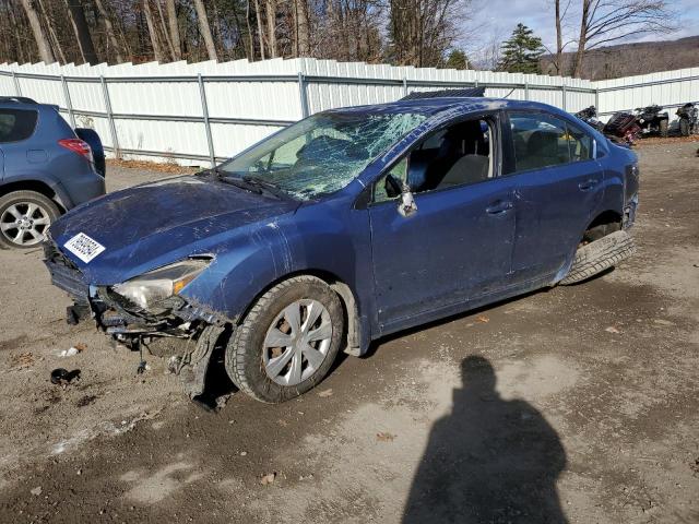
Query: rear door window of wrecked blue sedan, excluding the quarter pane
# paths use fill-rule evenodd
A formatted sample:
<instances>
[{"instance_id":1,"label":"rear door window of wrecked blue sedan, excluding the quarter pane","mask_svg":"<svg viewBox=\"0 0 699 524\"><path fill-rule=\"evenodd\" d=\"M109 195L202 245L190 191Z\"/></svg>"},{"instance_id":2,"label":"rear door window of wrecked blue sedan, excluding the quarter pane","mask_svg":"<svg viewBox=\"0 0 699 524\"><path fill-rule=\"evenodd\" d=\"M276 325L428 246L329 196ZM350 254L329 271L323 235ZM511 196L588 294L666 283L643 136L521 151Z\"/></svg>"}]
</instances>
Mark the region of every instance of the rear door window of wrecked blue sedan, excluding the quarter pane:
<instances>
[{"instance_id":1,"label":"rear door window of wrecked blue sedan, excluding the quarter pane","mask_svg":"<svg viewBox=\"0 0 699 524\"><path fill-rule=\"evenodd\" d=\"M569 133L566 122L541 112L511 112L518 171L568 164Z\"/></svg>"}]
</instances>

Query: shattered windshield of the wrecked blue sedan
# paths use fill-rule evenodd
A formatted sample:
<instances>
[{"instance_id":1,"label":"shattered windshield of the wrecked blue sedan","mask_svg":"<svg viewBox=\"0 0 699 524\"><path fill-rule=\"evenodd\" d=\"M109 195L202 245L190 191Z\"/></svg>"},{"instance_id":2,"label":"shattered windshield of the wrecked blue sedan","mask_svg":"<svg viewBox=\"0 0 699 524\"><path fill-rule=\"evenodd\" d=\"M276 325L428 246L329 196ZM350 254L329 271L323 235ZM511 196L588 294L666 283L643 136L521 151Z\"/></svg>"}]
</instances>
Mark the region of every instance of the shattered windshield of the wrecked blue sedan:
<instances>
[{"instance_id":1,"label":"shattered windshield of the wrecked blue sedan","mask_svg":"<svg viewBox=\"0 0 699 524\"><path fill-rule=\"evenodd\" d=\"M291 126L223 164L224 176L274 184L307 200L347 186L427 118L416 112L327 112Z\"/></svg>"}]
</instances>

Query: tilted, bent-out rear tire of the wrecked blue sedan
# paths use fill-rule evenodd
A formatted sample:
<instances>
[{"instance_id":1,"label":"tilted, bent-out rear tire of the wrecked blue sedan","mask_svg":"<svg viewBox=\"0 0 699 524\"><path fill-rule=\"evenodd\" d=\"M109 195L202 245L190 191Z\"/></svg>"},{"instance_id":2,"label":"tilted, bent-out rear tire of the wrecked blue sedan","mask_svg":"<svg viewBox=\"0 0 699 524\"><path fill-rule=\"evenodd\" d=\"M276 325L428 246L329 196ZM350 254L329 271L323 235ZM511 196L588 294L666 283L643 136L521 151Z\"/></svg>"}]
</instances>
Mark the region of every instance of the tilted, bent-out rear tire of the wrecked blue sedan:
<instances>
[{"instance_id":1,"label":"tilted, bent-out rear tire of the wrecked blue sedan","mask_svg":"<svg viewBox=\"0 0 699 524\"><path fill-rule=\"evenodd\" d=\"M627 231L615 231L579 248L568 275L560 281L560 284L566 286L587 281L628 259L635 252L633 237Z\"/></svg>"}]
</instances>

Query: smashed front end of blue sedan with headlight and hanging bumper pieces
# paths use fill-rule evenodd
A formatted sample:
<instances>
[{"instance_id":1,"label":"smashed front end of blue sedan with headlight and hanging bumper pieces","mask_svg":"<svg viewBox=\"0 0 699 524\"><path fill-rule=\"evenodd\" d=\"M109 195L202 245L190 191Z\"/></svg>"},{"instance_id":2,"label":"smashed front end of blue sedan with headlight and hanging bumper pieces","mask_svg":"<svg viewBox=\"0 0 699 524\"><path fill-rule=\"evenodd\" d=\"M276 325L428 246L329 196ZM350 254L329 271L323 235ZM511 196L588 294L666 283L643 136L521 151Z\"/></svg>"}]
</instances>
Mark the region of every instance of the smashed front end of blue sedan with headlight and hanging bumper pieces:
<instances>
[{"instance_id":1,"label":"smashed front end of blue sedan with headlight and hanging bumper pieces","mask_svg":"<svg viewBox=\"0 0 699 524\"><path fill-rule=\"evenodd\" d=\"M190 398L203 393L216 341L230 330L230 322L190 303L179 291L213 257L190 258L112 286L94 286L50 238L44 242L44 253L51 283L73 299L67 309L69 324L92 320L131 350L174 356L174 371Z\"/></svg>"}]
</instances>

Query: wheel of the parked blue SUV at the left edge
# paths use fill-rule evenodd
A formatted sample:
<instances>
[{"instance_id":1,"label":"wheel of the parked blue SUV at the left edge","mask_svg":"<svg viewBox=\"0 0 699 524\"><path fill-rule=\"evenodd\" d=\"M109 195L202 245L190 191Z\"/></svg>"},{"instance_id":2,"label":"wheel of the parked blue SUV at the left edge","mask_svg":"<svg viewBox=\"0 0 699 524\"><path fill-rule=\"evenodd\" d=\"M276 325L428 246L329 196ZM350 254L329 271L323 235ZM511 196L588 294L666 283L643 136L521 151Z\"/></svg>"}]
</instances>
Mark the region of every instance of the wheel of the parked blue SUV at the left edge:
<instances>
[{"instance_id":1,"label":"wheel of the parked blue SUV at the left edge","mask_svg":"<svg viewBox=\"0 0 699 524\"><path fill-rule=\"evenodd\" d=\"M54 201L35 191L14 191L0 196L0 248L37 246L59 215Z\"/></svg>"}]
</instances>

